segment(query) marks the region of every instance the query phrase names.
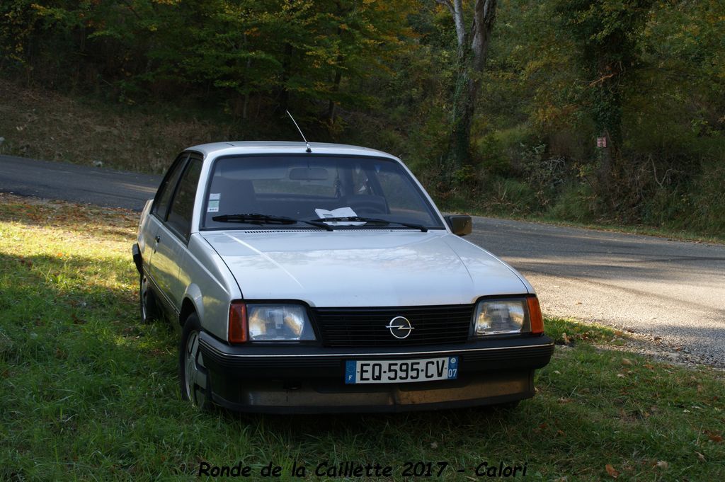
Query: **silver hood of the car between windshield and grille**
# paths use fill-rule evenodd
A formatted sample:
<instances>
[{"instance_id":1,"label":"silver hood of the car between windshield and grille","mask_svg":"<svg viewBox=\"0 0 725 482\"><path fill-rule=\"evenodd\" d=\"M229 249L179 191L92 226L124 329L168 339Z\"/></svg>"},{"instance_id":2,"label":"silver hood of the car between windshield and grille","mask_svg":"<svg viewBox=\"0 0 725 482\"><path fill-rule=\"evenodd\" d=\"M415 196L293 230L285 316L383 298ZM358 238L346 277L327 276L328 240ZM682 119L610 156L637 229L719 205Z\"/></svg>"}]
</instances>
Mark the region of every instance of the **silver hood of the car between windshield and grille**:
<instances>
[{"instance_id":1,"label":"silver hood of the car between windshield and grille","mask_svg":"<svg viewBox=\"0 0 725 482\"><path fill-rule=\"evenodd\" d=\"M468 304L531 291L513 268L446 232L228 230L202 236L245 299L316 307Z\"/></svg>"}]
</instances>

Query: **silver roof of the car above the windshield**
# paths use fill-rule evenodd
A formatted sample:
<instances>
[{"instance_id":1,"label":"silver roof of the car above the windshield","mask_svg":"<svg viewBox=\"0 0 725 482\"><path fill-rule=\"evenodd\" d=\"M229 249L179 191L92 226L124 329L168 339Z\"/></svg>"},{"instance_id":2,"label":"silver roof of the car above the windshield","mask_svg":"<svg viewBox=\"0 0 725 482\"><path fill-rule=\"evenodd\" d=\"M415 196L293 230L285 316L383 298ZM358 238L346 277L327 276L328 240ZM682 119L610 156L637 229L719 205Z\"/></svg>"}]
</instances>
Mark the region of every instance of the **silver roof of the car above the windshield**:
<instances>
[{"instance_id":1,"label":"silver roof of the car above the windshield","mask_svg":"<svg viewBox=\"0 0 725 482\"><path fill-rule=\"evenodd\" d=\"M397 159L397 157L383 151L368 147L348 146L347 144L327 144L323 142L310 142L312 154L342 154L349 156L376 156ZM305 154L307 145L304 142L285 141L231 141L199 144L189 147L186 151L196 151L207 157L234 154Z\"/></svg>"}]
</instances>

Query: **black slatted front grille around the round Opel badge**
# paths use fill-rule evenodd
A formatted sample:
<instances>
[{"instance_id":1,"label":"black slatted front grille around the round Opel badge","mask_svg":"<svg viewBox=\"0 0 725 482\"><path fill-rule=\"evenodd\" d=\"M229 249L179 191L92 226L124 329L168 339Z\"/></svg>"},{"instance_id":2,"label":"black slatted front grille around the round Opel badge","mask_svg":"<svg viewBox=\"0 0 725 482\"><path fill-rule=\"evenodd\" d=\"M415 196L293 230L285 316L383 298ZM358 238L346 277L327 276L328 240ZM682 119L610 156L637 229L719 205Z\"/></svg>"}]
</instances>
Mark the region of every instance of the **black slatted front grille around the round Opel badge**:
<instances>
[{"instance_id":1,"label":"black slatted front grille around the round Opel badge","mask_svg":"<svg viewBox=\"0 0 725 482\"><path fill-rule=\"evenodd\" d=\"M428 307L316 308L315 320L325 346L410 346L463 343L468 339L472 304ZM386 325L402 316L414 328L395 338Z\"/></svg>"}]
</instances>

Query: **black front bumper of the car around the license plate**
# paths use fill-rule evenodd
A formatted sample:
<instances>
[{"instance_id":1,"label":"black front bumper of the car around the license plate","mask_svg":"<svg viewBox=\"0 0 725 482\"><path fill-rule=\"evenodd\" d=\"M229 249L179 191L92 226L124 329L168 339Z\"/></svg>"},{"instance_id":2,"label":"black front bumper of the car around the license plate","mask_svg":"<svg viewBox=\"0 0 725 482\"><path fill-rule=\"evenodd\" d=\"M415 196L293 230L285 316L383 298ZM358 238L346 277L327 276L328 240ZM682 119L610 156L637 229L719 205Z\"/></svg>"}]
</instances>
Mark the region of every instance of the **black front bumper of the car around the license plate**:
<instances>
[{"instance_id":1,"label":"black front bumper of the car around the license plate","mask_svg":"<svg viewBox=\"0 0 725 482\"><path fill-rule=\"evenodd\" d=\"M202 332L214 402L244 412L397 412L500 404L534 396L534 370L554 351L547 336L395 349L230 346ZM457 356L456 380L348 385L348 360Z\"/></svg>"}]
</instances>

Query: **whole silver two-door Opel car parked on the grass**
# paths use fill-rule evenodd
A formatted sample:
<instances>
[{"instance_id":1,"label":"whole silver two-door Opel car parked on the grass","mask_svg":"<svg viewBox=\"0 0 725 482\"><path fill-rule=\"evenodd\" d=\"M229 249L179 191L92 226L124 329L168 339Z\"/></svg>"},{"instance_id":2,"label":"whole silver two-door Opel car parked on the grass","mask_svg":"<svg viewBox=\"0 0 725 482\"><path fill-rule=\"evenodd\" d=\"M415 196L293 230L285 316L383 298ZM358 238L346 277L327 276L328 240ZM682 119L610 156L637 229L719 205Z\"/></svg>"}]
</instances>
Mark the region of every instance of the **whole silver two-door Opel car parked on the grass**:
<instances>
[{"instance_id":1,"label":"whole silver two-door Opel car parked on the grass","mask_svg":"<svg viewBox=\"0 0 725 482\"><path fill-rule=\"evenodd\" d=\"M133 245L141 317L181 332L181 394L248 412L515 404L550 361L539 302L373 149L183 151Z\"/></svg>"}]
</instances>

